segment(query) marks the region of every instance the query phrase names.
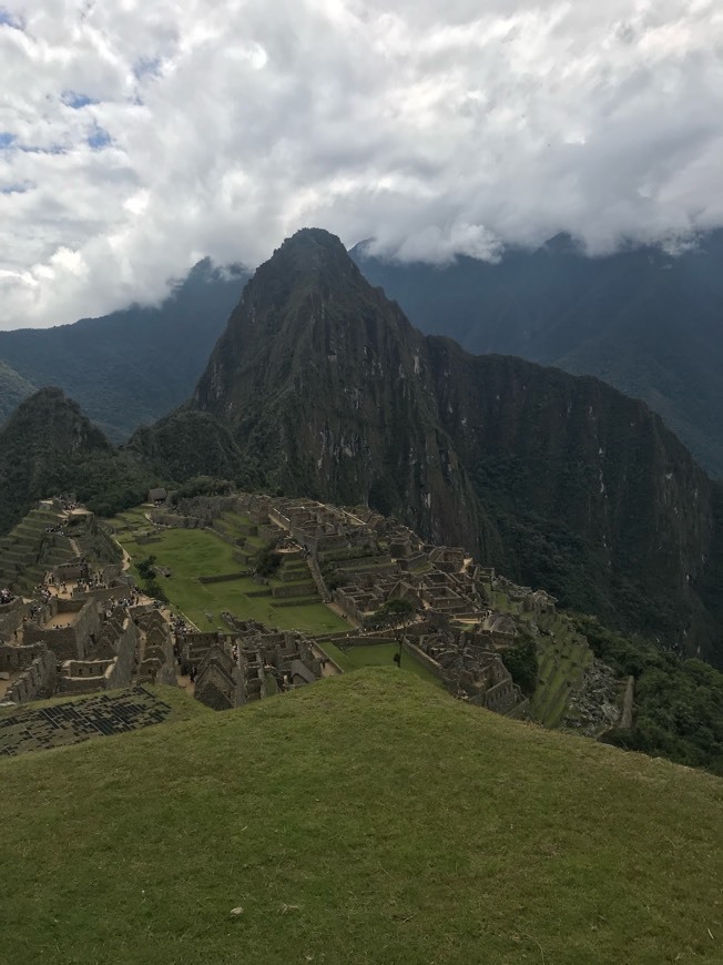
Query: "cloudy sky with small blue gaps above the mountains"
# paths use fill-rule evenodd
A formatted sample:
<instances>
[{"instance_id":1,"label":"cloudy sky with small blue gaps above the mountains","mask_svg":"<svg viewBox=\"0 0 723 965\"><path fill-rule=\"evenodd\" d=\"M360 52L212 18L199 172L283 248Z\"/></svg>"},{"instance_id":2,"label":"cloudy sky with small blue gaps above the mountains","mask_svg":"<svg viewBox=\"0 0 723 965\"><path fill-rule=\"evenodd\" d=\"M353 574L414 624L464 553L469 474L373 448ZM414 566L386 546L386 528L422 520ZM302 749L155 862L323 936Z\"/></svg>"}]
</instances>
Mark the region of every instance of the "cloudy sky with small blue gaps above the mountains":
<instances>
[{"instance_id":1,"label":"cloudy sky with small blue gaps above the mountains","mask_svg":"<svg viewBox=\"0 0 723 965\"><path fill-rule=\"evenodd\" d=\"M0 327L304 225L444 262L723 225L721 0L0 0Z\"/></svg>"}]
</instances>

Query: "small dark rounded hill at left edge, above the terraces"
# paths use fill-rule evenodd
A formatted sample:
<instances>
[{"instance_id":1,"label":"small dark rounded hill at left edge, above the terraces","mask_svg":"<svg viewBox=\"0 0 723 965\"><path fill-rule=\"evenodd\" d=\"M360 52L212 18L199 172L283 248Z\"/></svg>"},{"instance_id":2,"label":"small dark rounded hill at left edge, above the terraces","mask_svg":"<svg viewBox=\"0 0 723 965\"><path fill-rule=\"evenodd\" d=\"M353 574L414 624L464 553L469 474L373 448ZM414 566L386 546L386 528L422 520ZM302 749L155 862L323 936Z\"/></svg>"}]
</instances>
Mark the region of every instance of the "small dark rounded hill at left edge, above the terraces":
<instances>
[{"instance_id":1,"label":"small dark rounded hill at left edge, above the terraces","mask_svg":"<svg viewBox=\"0 0 723 965\"><path fill-rule=\"evenodd\" d=\"M0 429L0 534L33 502L73 491L100 512L143 498L152 477L119 451L61 389L26 399Z\"/></svg>"}]
</instances>

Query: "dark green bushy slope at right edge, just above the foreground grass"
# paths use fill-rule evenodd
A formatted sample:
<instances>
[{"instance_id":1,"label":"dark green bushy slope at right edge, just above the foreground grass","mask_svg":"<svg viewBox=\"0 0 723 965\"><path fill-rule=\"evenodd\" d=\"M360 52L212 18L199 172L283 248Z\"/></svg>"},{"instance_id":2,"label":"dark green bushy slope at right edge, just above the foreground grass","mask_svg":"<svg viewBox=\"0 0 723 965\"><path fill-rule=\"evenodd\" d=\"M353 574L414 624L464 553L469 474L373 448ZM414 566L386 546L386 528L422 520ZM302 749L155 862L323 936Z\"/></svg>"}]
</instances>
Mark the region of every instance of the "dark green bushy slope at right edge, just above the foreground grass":
<instances>
[{"instance_id":1,"label":"dark green bushy slope at right edge, just above the foreground grass","mask_svg":"<svg viewBox=\"0 0 723 965\"><path fill-rule=\"evenodd\" d=\"M723 775L723 673L592 618L578 618L578 624L595 656L635 678L632 730L610 731L604 740Z\"/></svg>"}]
</instances>

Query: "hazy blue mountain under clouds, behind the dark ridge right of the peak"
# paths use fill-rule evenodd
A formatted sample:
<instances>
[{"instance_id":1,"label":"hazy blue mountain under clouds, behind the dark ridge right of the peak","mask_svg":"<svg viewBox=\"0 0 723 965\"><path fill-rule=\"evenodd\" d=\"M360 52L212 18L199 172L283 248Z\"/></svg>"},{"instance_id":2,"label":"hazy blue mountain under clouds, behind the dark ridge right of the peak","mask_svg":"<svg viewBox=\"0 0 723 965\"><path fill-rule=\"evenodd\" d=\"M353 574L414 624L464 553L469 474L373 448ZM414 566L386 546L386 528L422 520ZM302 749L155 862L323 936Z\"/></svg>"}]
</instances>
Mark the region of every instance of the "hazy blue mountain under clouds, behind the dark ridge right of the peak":
<instances>
[{"instance_id":1,"label":"hazy blue mountain under clouds, behind the dark ridge right of the peak","mask_svg":"<svg viewBox=\"0 0 723 965\"><path fill-rule=\"evenodd\" d=\"M646 402L723 477L723 231L676 256L643 247L588 258L564 236L497 264L404 265L365 244L352 254L424 332L598 376Z\"/></svg>"}]
</instances>

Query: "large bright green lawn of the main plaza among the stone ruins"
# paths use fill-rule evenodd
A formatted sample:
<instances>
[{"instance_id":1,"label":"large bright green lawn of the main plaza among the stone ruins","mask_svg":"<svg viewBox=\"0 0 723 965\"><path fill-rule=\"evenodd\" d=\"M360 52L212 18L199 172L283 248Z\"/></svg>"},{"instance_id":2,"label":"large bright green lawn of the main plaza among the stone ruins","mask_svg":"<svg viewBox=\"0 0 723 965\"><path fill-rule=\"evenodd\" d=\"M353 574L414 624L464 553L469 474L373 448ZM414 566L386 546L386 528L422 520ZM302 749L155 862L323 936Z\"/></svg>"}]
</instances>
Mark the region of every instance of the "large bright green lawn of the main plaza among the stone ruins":
<instances>
[{"instance_id":1,"label":"large bright green lawn of the main plaza among the stone ruins","mask_svg":"<svg viewBox=\"0 0 723 965\"><path fill-rule=\"evenodd\" d=\"M261 620L282 630L333 633L349 629L345 620L322 602L275 607L271 597L250 597L250 592L263 589L251 578L222 583L198 582L200 576L233 573L244 569L234 559L231 544L207 529L162 529L155 534L160 536L160 542L139 545L134 539L133 526L143 528L143 522L147 525L147 520L139 518L138 510L131 512L135 515L122 514L111 524L116 530L116 538L132 558L131 569L135 579L140 580L138 561L154 556L159 566L172 572L170 579L159 578L169 600L201 630L227 629L221 619L224 610L241 619ZM126 520L131 528L123 529ZM206 613L212 614L212 619Z\"/></svg>"}]
</instances>

